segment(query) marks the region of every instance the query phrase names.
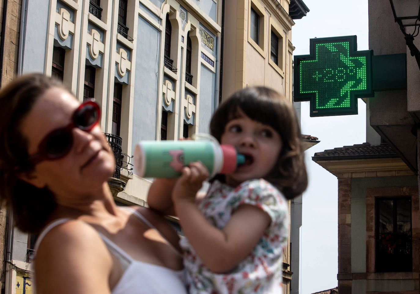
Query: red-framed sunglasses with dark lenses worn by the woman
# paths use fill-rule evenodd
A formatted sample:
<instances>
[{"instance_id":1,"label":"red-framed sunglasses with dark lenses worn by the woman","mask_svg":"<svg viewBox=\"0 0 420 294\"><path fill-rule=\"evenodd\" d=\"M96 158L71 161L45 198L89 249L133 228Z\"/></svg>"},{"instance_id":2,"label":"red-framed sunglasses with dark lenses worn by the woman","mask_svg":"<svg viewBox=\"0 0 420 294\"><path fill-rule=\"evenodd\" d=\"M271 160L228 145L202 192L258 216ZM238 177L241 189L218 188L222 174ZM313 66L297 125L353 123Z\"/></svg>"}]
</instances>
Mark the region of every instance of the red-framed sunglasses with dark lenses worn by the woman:
<instances>
[{"instance_id":1,"label":"red-framed sunglasses with dark lenses worn by the woman","mask_svg":"<svg viewBox=\"0 0 420 294\"><path fill-rule=\"evenodd\" d=\"M36 165L44 160L55 160L66 156L73 146L73 129L91 131L97 125L100 114L99 105L95 101L83 102L74 110L71 122L65 127L50 131L39 143L38 152L29 155L28 161Z\"/></svg>"}]
</instances>

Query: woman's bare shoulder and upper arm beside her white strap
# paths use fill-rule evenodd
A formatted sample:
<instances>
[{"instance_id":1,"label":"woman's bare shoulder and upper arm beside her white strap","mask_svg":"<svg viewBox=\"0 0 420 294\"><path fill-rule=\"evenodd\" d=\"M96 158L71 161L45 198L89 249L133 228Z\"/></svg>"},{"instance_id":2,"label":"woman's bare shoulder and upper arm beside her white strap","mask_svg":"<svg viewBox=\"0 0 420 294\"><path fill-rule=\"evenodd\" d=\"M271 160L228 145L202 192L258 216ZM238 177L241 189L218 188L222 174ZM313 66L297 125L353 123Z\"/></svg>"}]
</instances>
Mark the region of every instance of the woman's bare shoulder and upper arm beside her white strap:
<instances>
[{"instance_id":1,"label":"woman's bare shoulder and upper arm beside her white strap","mask_svg":"<svg viewBox=\"0 0 420 294\"><path fill-rule=\"evenodd\" d=\"M112 257L95 229L78 220L54 227L35 259L38 294L110 294Z\"/></svg>"}]
</instances>

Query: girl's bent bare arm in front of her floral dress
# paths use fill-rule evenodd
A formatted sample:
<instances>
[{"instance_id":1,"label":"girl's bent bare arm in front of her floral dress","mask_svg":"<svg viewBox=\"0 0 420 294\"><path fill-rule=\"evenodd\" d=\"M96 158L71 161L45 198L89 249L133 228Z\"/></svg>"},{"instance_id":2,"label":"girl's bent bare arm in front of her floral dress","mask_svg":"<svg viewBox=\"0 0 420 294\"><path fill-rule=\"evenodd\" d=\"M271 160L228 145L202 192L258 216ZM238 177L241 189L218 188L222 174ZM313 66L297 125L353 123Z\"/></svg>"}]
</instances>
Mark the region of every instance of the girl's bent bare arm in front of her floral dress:
<instances>
[{"instance_id":1,"label":"girl's bent bare arm in front of her floral dress","mask_svg":"<svg viewBox=\"0 0 420 294\"><path fill-rule=\"evenodd\" d=\"M192 197L207 177L206 172L199 163L184 168L172 197L182 230L202 262L212 272L224 273L252 252L271 219L258 207L241 205L223 230L215 228L199 211Z\"/></svg>"}]
</instances>

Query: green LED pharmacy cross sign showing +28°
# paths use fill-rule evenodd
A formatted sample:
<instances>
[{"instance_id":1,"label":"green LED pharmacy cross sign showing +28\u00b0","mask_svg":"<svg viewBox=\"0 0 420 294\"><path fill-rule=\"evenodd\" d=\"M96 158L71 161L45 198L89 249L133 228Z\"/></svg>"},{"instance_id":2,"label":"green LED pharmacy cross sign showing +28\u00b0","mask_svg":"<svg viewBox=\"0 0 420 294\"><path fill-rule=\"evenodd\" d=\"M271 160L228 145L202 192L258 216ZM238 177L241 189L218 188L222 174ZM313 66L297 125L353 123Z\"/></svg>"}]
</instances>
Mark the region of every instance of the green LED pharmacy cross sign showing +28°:
<instances>
[{"instance_id":1,"label":"green LED pharmacy cross sign showing +28\u00b0","mask_svg":"<svg viewBox=\"0 0 420 294\"><path fill-rule=\"evenodd\" d=\"M372 55L356 36L310 39L294 57L294 101L310 101L310 116L357 114L357 98L373 96Z\"/></svg>"}]
</instances>

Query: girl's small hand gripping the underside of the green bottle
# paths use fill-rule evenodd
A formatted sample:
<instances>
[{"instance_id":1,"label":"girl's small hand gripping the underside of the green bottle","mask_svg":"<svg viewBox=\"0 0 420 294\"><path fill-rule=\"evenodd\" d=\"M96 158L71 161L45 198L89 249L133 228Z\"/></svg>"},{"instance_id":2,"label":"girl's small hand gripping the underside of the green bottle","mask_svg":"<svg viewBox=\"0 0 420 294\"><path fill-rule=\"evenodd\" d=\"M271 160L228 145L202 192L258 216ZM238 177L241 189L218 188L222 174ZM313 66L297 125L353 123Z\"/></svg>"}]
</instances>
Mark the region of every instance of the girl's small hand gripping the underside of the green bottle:
<instances>
[{"instance_id":1,"label":"girl's small hand gripping the underside of the green bottle","mask_svg":"<svg viewBox=\"0 0 420 294\"><path fill-rule=\"evenodd\" d=\"M187 200L195 202L198 190L203 181L209 177L207 168L199 161L182 168L182 175L176 181L172 190L172 201Z\"/></svg>"}]
</instances>

